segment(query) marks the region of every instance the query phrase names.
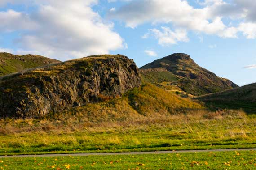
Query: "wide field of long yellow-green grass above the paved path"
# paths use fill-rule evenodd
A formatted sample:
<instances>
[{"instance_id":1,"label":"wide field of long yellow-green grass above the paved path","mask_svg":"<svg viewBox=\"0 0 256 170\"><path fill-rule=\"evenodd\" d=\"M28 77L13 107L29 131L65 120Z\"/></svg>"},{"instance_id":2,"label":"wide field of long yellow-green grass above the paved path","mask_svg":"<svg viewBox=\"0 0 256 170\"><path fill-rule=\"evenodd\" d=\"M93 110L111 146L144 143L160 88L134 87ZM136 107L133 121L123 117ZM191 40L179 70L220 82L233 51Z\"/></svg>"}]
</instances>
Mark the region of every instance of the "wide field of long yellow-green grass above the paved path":
<instances>
[{"instance_id":1,"label":"wide field of long yellow-green grass above the paved path","mask_svg":"<svg viewBox=\"0 0 256 170\"><path fill-rule=\"evenodd\" d=\"M100 153L256 147L256 118L243 111L191 112L125 121L1 122L0 154ZM4 125L5 123L5 125ZM4 126L3 126L4 125Z\"/></svg>"}]
</instances>

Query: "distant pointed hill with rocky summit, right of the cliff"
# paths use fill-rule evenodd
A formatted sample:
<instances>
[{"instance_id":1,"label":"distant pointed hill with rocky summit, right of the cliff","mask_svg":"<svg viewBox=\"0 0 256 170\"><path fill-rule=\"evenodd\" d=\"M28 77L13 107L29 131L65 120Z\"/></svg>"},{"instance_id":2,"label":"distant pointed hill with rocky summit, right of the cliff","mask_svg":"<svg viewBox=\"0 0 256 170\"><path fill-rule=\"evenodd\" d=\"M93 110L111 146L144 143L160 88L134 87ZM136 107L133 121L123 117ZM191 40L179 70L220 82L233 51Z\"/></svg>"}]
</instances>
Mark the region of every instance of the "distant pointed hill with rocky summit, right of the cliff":
<instances>
[{"instance_id":1,"label":"distant pointed hill with rocky summit, right of the cliff","mask_svg":"<svg viewBox=\"0 0 256 170\"><path fill-rule=\"evenodd\" d=\"M158 84L169 82L169 85L194 96L238 87L232 81L200 67L190 55L183 53L155 60L140 70L144 81Z\"/></svg>"}]
</instances>

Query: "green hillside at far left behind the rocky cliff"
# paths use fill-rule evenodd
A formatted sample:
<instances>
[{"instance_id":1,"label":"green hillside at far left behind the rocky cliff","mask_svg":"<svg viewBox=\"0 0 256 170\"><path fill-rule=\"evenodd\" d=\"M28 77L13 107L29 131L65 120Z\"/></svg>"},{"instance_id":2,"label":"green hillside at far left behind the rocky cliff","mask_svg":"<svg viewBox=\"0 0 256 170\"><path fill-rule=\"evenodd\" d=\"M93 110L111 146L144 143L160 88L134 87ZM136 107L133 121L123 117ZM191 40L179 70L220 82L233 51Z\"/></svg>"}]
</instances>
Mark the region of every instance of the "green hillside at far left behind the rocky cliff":
<instances>
[{"instance_id":1,"label":"green hillside at far left behind the rocky cliff","mask_svg":"<svg viewBox=\"0 0 256 170\"><path fill-rule=\"evenodd\" d=\"M60 63L56 59L49 59L40 55L13 55L0 53L0 76L20 72L28 68L36 68L48 64Z\"/></svg>"}]
</instances>

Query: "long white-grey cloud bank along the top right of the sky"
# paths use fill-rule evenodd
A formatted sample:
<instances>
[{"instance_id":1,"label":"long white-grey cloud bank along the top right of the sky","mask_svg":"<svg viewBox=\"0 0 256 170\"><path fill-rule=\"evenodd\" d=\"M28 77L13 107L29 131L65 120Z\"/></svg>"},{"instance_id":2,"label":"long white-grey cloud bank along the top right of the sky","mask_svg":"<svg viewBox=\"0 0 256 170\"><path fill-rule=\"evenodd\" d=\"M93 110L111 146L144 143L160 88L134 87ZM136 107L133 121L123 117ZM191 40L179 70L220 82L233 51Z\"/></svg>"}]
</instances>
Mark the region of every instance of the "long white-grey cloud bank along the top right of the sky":
<instances>
[{"instance_id":1,"label":"long white-grey cloud bank along the top right of the sky","mask_svg":"<svg viewBox=\"0 0 256 170\"><path fill-rule=\"evenodd\" d=\"M199 4L202 8L194 8L187 0L134 0L110 13L109 17L124 21L131 28L144 23L169 23L176 28L222 38L238 38L239 32L247 38L255 38L256 30L251 24L256 23L255 0L232 0L230 3L224 0L201 0ZM240 23L230 27L225 25L223 18Z\"/></svg>"}]
</instances>

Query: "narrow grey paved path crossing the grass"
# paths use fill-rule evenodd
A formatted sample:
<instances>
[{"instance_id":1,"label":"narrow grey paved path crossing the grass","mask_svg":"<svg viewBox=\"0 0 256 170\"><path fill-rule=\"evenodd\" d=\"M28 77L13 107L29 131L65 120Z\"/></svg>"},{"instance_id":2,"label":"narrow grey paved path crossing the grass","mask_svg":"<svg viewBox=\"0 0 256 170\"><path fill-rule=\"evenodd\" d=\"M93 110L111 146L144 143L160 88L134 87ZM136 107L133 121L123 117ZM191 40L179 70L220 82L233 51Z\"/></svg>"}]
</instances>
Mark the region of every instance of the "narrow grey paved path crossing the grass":
<instances>
[{"instance_id":1,"label":"narrow grey paved path crossing the grass","mask_svg":"<svg viewBox=\"0 0 256 170\"><path fill-rule=\"evenodd\" d=\"M142 154L164 154L164 153L194 153L194 152L229 152L229 151L250 151L256 148L248 149L211 149L211 150L178 150L178 151L153 151L153 152L119 152L119 153L73 153L73 154L45 154L45 155L17 155L0 156L7 157L67 157L67 156L106 156L106 155L142 155Z\"/></svg>"}]
</instances>

